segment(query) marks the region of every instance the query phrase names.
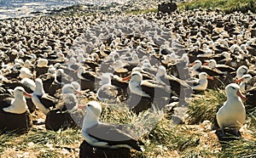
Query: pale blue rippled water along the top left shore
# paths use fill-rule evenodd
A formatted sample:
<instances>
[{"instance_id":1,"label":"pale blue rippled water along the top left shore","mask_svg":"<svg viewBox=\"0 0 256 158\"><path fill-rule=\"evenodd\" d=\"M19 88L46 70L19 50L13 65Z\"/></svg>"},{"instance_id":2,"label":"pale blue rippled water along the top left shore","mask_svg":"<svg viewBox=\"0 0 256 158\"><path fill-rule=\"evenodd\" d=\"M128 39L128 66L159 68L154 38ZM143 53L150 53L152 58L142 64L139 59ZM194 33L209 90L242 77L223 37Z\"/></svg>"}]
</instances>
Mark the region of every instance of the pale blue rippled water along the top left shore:
<instances>
[{"instance_id":1,"label":"pale blue rippled water along the top left shore","mask_svg":"<svg viewBox=\"0 0 256 158\"><path fill-rule=\"evenodd\" d=\"M125 0L126 1L126 0ZM45 14L76 4L124 3L124 0L0 0L0 19Z\"/></svg>"}]
</instances>

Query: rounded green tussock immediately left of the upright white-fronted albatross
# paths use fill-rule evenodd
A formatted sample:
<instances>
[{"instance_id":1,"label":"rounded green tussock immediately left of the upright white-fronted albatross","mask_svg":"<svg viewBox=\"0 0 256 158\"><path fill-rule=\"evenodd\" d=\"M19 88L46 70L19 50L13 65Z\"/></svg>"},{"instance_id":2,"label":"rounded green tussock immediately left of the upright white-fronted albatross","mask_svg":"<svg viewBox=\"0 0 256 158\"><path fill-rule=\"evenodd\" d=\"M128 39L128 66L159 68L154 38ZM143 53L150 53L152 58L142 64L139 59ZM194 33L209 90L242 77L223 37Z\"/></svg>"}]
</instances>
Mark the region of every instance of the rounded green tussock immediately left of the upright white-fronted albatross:
<instances>
[{"instance_id":1,"label":"rounded green tussock immediately left of the upright white-fronted albatross","mask_svg":"<svg viewBox=\"0 0 256 158\"><path fill-rule=\"evenodd\" d=\"M204 96L195 96L189 104L189 124L203 121L215 121L216 112L224 104L226 96L223 90L209 90Z\"/></svg>"}]
</instances>

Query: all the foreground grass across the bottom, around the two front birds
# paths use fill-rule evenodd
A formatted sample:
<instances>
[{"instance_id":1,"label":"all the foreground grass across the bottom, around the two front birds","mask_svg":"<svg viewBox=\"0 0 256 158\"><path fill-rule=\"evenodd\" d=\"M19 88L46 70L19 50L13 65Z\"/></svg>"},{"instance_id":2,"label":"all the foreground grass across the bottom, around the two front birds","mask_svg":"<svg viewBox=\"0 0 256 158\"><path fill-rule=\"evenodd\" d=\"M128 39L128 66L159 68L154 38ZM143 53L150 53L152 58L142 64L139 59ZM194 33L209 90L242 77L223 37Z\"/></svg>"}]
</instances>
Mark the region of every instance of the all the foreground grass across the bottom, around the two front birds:
<instances>
[{"instance_id":1,"label":"all the foreground grass across the bottom, around the two front birds","mask_svg":"<svg viewBox=\"0 0 256 158\"><path fill-rule=\"evenodd\" d=\"M189 104L188 123L183 125L173 124L172 117L159 110L146 110L137 116L124 104L102 104L101 120L131 125L137 131L145 144L144 151L132 150L132 157L254 157L256 119L253 111L247 114L242 139L219 144L211 125L215 111L224 100L221 90L195 96ZM205 124L205 120L210 124ZM0 135L0 152L7 157L79 157L82 141L80 129L53 132L34 126L23 135Z\"/></svg>"}]
</instances>

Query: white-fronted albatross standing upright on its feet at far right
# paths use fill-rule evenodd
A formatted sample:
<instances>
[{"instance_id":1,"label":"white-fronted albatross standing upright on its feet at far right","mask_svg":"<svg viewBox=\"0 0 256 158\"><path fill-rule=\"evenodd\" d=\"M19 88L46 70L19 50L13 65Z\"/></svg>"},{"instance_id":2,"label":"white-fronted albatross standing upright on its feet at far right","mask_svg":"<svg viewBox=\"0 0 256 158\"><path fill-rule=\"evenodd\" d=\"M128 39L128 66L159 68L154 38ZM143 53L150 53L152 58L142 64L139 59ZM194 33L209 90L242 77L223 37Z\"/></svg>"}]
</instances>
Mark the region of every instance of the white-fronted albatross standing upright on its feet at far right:
<instances>
[{"instance_id":1,"label":"white-fronted albatross standing upright on its feet at far right","mask_svg":"<svg viewBox=\"0 0 256 158\"><path fill-rule=\"evenodd\" d=\"M223 135L225 127L235 128L236 133L238 133L245 123L246 110L241 99L246 98L239 89L240 87L236 83L230 83L225 87L227 100L216 114L218 126L221 128Z\"/></svg>"}]
</instances>

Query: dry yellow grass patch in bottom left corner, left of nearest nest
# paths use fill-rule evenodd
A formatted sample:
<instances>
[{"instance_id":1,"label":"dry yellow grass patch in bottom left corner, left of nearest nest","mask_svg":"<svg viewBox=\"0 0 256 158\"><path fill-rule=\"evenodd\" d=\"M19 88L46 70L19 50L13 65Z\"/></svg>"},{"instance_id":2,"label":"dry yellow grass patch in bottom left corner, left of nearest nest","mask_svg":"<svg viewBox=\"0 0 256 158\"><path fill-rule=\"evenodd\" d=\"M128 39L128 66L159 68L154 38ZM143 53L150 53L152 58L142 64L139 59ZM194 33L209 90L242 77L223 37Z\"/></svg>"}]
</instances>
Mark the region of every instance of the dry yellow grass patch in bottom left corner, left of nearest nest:
<instances>
[{"instance_id":1,"label":"dry yellow grass patch in bottom left corner, left of nearest nest","mask_svg":"<svg viewBox=\"0 0 256 158\"><path fill-rule=\"evenodd\" d=\"M32 157L65 157L74 155L80 142L79 129L53 132L32 128L23 135L0 135L0 152L11 157L22 155L20 153L29 153Z\"/></svg>"}]
</instances>

